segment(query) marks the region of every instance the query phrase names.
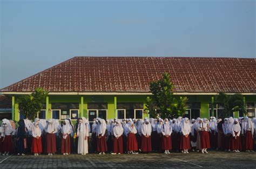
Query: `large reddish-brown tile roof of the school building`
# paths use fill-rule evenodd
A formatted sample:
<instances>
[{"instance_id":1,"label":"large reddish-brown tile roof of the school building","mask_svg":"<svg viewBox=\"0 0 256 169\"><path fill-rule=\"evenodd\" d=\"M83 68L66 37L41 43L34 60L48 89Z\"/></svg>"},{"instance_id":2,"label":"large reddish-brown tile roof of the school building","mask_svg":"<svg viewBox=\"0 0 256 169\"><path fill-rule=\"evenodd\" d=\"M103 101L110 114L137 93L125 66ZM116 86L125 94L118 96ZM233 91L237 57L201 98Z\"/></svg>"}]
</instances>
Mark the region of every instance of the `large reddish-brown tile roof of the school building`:
<instances>
[{"instance_id":1,"label":"large reddish-brown tile roof of the school building","mask_svg":"<svg viewBox=\"0 0 256 169\"><path fill-rule=\"evenodd\" d=\"M256 59L74 57L1 91L149 92L169 72L177 92L256 92Z\"/></svg>"}]
</instances>

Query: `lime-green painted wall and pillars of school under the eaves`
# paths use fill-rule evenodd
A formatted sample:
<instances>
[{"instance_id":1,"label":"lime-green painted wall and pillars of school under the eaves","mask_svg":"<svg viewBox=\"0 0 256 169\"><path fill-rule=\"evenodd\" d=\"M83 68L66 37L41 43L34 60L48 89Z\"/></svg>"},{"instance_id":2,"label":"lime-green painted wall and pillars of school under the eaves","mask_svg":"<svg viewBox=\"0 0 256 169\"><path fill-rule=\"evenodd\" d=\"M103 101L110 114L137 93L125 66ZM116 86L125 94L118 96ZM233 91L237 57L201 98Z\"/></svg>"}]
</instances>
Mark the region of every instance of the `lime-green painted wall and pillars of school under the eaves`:
<instances>
[{"instance_id":1,"label":"lime-green painted wall and pillars of school under the eaves","mask_svg":"<svg viewBox=\"0 0 256 169\"><path fill-rule=\"evenodd\" d=\"M88 117L87 115L87 103L95 102L95 98L99 97L100 102L107 102L107 118L115 118L116 114L116 104L119 102L143 102L144 109L145 109L145 101L146 95L105 95L105 96L91 96L91 95L50 95L46 98L46 119L51 118L51 103L54 102L77 102L79 103L79 117L84 116ZM177 95L177 97L179 97ZM189 102L200 102L201 109L200 109L200 116L201 117L209 117L209 110L208 110L208 103L212 102L212 95L193 95L187 96ZM18 96L12 97L12 111L13 115L12 118L15 121L19 120L19 112L18 112ZM255 95L245 95L245 102L256 102ZM48 104L49 103L49 104ZM116 104L115 104L116 103ZM147 114L144 113L143 117L146 117ZM238 117L238 112L235 112L235 117Z\"/></svg>"}]
</instances>

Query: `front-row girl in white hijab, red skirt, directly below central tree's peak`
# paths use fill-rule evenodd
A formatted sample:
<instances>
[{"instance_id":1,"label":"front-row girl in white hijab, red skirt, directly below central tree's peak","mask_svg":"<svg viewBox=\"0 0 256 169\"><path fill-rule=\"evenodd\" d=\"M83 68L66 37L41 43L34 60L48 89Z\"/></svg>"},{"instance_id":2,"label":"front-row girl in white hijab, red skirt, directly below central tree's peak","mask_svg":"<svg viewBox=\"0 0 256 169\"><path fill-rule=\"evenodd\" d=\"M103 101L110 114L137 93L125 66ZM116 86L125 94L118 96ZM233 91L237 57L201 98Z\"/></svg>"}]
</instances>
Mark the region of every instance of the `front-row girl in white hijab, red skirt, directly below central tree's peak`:
<instances>
[{"instance_id":1,"label":"front-row girl in white hijab, red skirt, directly below central tree's peak","mask_svg":"<svg viewBox=\"0 0 256 169\"><path fill-rule=\"evenodd\" d=\"M165 154L170 154L170 151L172 149L172 139L171 139L171 134L172 134L172 128L171 125L169 124L168 118L164 119L164 124L161 125L161 133L163 135L161 139L161 149L164 150Z\"/></svg>"}]
</instances>

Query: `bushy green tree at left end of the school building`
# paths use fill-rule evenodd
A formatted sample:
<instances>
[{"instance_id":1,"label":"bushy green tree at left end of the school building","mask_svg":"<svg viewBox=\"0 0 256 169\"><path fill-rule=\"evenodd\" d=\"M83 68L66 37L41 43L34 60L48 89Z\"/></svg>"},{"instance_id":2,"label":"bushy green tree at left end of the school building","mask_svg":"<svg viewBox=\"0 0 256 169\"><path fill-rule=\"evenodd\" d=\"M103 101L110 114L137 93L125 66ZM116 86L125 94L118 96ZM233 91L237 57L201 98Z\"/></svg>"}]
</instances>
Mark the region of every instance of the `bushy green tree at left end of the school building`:
<instances>
[{"instance_id":1,"label":"bushy green tree at left end of the school building","mask_svg":"<svg viewBox=\"0 0 256 169\"><path fill-rule=\"evenodd\" d=\"M48 91L43 88L36 88L34 93L30 95L22 95L18 98L18 109L21 114L28 119L35 119L37 112L43 108L42 103L45 102Z\"/></svg>"}]
</instances>

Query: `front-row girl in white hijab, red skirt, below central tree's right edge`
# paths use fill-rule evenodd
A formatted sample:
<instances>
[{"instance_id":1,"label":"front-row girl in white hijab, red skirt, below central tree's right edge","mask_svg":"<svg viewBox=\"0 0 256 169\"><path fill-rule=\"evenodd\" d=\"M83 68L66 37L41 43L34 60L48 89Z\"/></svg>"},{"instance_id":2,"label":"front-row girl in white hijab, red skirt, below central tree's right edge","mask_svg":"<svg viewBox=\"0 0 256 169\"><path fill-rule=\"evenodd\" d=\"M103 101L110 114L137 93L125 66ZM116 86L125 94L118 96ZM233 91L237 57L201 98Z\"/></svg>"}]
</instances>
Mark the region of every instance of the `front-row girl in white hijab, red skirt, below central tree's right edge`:
<instances>
[{"instance_id":1,"label":"front-row girl in white hijab, red skirt, below central tree's right edge","mask_svg":"<svg viewBox=\"0 0 256 169\"><path fill-rule=\"evenodd\" d=\"M190 147L190 119L187 117L184 118L183 123L181 124L181 142L180 142L180 149L183 150L184 153L188 153L188 150L191 149Z\"/></svg>"}]
</instances>

